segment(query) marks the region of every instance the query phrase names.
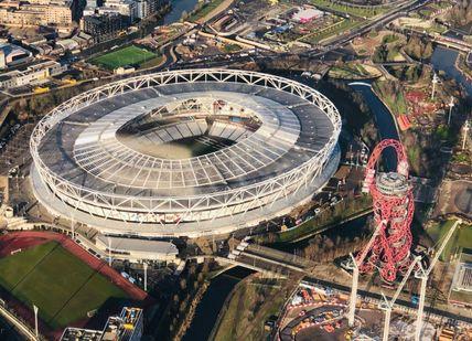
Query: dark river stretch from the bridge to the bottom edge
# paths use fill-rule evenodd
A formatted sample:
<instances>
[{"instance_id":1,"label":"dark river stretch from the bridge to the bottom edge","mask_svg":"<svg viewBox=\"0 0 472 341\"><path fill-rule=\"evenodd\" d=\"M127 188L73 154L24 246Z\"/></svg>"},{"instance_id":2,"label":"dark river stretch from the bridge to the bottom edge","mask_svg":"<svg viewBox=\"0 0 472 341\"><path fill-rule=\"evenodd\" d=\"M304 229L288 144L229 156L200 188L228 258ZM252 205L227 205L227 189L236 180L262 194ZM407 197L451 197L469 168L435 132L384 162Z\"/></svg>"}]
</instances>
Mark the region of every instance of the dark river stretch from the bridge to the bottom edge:
<instances>
[{"instance_id":1,"label":"dark river stretch from the bridge to the bottom edge","mask_svg":"<svg viewBox=\"0 0 472 341\"><path fill-rule=\"evenodd\" d=\"M240 280L253 273L246 268L235 267L213 278L196 307L192 323L182 340L208 340L226 297Z\"/></svg>"}]
</instances>

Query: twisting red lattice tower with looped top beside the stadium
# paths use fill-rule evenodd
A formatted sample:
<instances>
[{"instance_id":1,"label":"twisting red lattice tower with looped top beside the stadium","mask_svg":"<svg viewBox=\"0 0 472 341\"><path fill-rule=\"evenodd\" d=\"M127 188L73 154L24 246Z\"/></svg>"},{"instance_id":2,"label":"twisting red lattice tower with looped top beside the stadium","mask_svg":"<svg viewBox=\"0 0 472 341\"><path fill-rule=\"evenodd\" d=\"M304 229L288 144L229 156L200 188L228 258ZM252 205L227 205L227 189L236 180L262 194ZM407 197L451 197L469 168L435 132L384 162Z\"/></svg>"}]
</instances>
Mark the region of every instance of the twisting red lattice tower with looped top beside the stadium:
<instances>
[{"instance_id":1,"label":"twisting red lattice tower with looped top beside the stadium","mask_svg":"<svg viewBox=\"0 0 472 341\"><path fill-rule=\"evenodd\" d=\"M382 152L389 147L396 151L397 170L376 174ZM371 273L377 267L382 278L391 283L398 271L409 266L410 224L415 211L412 191L408 184L408 161L399 141L387 139L375 147L367 162L363 192L372 194L375 224L382 226L360 270Z\"/></svg>"}]
</instances>

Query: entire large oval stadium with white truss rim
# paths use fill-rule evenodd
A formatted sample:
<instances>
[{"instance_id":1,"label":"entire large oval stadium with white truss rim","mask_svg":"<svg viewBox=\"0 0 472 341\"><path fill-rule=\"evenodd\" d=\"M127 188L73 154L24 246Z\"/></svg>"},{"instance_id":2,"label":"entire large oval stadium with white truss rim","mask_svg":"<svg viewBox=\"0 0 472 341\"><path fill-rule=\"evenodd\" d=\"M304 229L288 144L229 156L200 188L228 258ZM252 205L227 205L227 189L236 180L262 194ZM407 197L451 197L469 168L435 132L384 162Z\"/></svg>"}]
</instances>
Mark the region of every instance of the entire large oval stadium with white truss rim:
<instances>
[{"instance_id":1,"label":"entire large oval stadium with white truss rim","mask_svg":"<svg viewBox=\"0 0 472 341\"><path fill-rule=\"evenodd\" d=\"M53 109L31 137L31 179L49 211L104 234L226 234L310 200L337 168L340 131L334 105L294 81L161 72Z\"/></svg>"}]
</instances>

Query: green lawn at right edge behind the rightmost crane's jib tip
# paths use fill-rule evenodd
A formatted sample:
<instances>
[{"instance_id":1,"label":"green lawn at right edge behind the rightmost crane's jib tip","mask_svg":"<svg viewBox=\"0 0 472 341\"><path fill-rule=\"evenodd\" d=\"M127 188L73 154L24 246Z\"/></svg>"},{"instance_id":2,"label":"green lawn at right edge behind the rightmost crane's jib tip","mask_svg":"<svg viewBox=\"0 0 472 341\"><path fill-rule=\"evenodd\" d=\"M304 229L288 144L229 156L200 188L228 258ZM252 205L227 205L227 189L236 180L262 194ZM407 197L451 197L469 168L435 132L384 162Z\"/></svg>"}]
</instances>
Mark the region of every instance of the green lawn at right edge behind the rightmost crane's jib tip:
<instances>
[{"instance_id":1,"label":"green lawn at right edge behind the rightmost crane's jib tip","mask_svg":"<svg viewBox=\"0 0 472 341\"><path fill-rule=\"evenodd\" d=\"M450 220L443 223L438 223L429 227L427 232L436 243L441 243L454 222L455 220ZM454 234L446 245L440 259L444 262L449 260L453 253L458 251L460 252L463 248L472 248L472 226L464 224L462 224L460 228L455 230Z\"/></svg>"}]
</instances>

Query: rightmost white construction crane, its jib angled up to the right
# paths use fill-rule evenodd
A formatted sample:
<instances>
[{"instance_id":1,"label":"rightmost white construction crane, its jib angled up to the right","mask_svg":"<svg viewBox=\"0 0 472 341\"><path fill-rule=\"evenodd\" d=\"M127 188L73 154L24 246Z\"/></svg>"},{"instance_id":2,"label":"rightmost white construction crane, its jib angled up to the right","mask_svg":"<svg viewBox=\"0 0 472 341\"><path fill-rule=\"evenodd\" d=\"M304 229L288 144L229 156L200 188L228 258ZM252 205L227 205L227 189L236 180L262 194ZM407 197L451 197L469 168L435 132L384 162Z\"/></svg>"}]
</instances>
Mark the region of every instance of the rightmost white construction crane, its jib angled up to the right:
<instances>
[{"instance_id":1,"label":"rightmost white construction crane, its jib angled up to the right","mask_svg":"<svg viewBox=\"0 0 472 341\"><path fill-rule=\"evenodd\" d=\"M444 251L446 245L448 244L451 236L454 234L457 227L462 224L462 220L457 220L452 227L449 230L448 234L444 237L444 241L442 241L441 246L437 251L435 257L432 258L431 263L429 264L428 269L425 270L421 263L419 263L419 269L416 271L415 277L421 279L420 285L420 292L419 292L419 302L418 302L418 316L417 316L417 322L416 322L416 333L415 333L415 341L419 341L421 337L421 328L422 328L422 316L425 310L425 299L426 299L426 287L428 284L429 275L431 274L436 263L438 263L439 256Z\"/></svg>"}]
</instances>

